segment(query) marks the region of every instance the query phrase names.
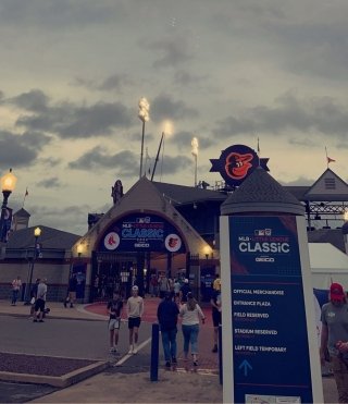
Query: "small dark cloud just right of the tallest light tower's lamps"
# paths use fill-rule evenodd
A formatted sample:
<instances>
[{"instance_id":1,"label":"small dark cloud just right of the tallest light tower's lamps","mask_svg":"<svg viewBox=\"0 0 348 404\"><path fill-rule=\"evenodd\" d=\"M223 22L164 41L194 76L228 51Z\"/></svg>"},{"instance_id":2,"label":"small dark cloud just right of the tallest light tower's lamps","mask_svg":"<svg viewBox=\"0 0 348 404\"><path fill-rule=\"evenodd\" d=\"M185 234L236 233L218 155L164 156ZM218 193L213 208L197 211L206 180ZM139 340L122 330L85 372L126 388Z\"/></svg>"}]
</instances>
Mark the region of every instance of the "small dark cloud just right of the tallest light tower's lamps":
<instances>
[{"instance_id":1,"label":"small dark cloud just right of the tallest light tower's lamps","mask_svg":"<svg viewBox=\"0 0 348 404\"><path fill-rule=\"evenodd\" d=\"M162 94L151 101L150 118L153 122L170 119L197 118L198 111L187 107L184 101L174 101L171 96Z\"/></svg>"}]
</instances>

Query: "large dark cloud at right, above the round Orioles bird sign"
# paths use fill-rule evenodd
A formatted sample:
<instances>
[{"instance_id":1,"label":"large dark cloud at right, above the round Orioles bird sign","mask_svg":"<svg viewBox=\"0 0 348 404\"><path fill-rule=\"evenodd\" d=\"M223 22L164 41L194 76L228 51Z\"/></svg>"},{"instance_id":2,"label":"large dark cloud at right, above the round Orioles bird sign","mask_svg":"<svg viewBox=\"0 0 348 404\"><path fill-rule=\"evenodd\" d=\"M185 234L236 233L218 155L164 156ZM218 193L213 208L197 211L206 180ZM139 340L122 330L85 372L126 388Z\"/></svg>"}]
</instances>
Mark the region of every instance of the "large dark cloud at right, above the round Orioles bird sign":
<instances>
[{"instance_id":1,"label":"large dark cloud at right, above the round Orioles bird sign","mask_svg":"<svg viewBox=\"0 0 348 404\"><path fill-rule=\"evenodd\" d=\"M333 98L300 100L288 93L277 98L273 107L246 108L239 115L219 121L213 133L221 139L258 132L288 135L289 131L345 138L348 127L347 112L347 106L339 105Z\"/></svg>"}]
</instances>

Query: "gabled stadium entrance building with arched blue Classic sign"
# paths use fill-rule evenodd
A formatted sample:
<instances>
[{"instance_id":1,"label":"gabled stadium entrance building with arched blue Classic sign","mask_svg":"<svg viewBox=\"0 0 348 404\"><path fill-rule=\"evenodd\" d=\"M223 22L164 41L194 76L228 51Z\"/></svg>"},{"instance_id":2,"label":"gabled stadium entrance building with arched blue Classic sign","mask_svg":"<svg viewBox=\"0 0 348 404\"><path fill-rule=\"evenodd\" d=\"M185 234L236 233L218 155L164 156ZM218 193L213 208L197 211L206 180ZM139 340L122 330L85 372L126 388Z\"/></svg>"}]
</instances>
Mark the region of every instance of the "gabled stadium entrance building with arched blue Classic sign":
<instances>
[{"instance_id":1,"label":"gabled stadium entrance building with arched blue Classic sign","mask_svg":"<svg viewBox=\"0 0 348 404\"><path fill-rule=\"evenodd\" d=\"M210 285L217 249L173 205L146 176L114 198L72 249L73 272L87 280L85 299L104 299L114 289L127 296L133 284L142 294L159 276L187 278L200 293Z\"/></svg>"}]
</instances>

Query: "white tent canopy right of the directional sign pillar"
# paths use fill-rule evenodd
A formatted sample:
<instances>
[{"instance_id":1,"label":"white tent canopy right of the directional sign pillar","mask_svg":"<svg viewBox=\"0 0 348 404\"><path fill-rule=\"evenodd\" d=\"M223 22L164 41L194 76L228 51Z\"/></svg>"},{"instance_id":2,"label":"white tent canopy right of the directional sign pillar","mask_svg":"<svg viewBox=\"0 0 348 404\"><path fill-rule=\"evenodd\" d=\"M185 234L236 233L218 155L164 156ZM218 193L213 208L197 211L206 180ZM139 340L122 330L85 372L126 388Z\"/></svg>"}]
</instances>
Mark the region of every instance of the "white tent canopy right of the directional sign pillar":
<instances>
[{"instance_id":1,"label":"white tent canopy right of the directional sign pillar","mask_svg":"<svg viewBox=\"0 0 348 404\"><path fill-rule=\"evenodd\" d=\"M309 243L314 289L328 290L333 282L348 290L348 255L330 243Z\"/></svg>"}]
</instances>

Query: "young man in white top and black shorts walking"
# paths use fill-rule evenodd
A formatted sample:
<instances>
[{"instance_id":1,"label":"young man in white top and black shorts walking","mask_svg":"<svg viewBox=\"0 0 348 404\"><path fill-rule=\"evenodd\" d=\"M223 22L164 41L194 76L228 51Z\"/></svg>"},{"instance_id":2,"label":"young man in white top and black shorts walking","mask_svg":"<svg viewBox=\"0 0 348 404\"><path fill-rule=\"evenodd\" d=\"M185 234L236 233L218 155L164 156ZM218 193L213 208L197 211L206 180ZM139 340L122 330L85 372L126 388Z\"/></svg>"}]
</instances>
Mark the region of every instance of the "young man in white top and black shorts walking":
<instances>
[{"instance_id":1,"label":"young man in white top and black shorts walking","mask_svg":"<svg viewBox=\"0 0 348 404\"><path fill-rule=\"evenodd\" d=\"M129 330L129 351L128 354L138 353L138 338L141 316L144 314L144 299L138 295L139 287L132 287L132 296L127 299L127 317Z\"/></svg>"}]
</instances>

